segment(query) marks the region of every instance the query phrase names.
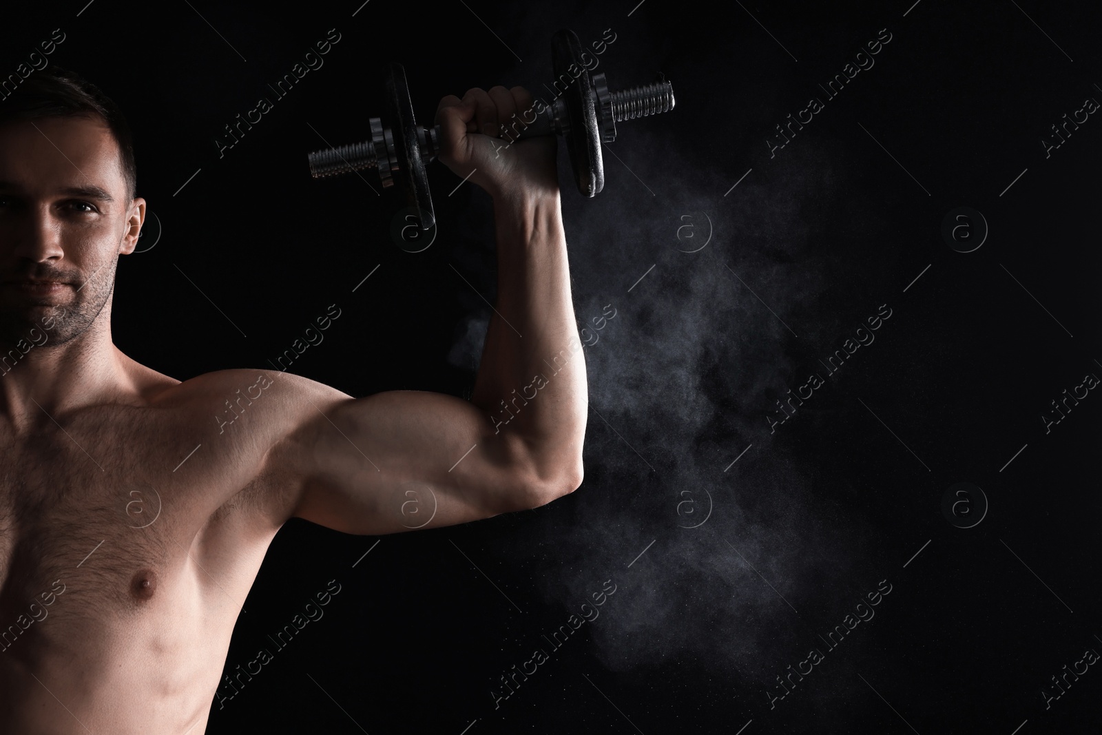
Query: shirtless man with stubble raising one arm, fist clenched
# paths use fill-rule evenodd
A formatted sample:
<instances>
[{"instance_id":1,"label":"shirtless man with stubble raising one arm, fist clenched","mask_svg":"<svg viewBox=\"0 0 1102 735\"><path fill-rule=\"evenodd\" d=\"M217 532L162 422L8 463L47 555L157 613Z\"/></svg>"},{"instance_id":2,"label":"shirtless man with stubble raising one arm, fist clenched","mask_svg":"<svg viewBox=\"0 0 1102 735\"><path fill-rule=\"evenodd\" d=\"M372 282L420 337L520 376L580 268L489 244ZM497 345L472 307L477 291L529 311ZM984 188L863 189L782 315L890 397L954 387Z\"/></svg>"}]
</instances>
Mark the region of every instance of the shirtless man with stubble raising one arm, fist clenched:
<instances>
[{"instance_id":1,"label":"shirtless man with stubble raising one arm, fist clenched","mask_svg":"<svg viewBox=\"0 0 1102 735\"><path fill-rule=\"evenodd\" d=\"M268 368L181 382L139 365L110 328L118 256L145 216L125 122L55 68L0 102L0 731L202 733L291 517L376 536L577 488L587 398L557 143L497 155L491 139L530 105L494 87L436 112L441 159L477 170L494 202L497 314L468 402L354 399ZM533 382L517 410L515 389ZM507 424L491 418L504 407Z\"/></svg>"}]
</instances>

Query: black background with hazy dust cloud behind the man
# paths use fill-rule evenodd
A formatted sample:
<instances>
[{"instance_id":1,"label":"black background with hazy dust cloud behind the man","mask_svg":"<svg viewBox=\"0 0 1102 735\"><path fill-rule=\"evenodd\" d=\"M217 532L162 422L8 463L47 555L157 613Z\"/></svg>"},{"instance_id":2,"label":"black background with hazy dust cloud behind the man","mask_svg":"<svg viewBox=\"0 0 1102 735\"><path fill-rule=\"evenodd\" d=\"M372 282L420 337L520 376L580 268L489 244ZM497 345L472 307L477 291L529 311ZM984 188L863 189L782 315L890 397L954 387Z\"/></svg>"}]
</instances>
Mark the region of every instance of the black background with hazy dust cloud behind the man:
<instances>
[{"instance_id":1,"label":"black background with hazy dust cloud behind the man","mask_svg":"<svg viewBox=\"0 0 1102 735\"><path fill-rule=\"evenodd\" d=\"M458 177L431 166L439 235L414 255L390 239L391 192L306 169L325 141L368 137L383 62L406 65L422 121L445 94L550 84L559 28L583 43L612 29L614 87L673 83L673 111L620 126L594 199L560 147L579 320L617 314L585 353L582 487L380 539L288 523L227 672L329 580L342 591L208 732L1096 732L1102 673L1047 710L1041 690L1102 650L1102 399L1047 434L1040 419L1102 375L1102 122L1048 158L1041 144L1102 99L1096 3L636 2L4 11L4 74L61 28L52 63L130 118L163 231L120 263L115 341L180 379L269 367L336 303L292 371L355 396L467 394L479 293L495 293L488 196L449 196ZM219 158L223 127L329 29L324 66ZM828 100L818 85L880 29L875 65ZM812 96L824 109L770 158L774 127ZM962 206L990 227L968 253L941 236ZM770 433L776 401L882 304L875 343ZM942 514L958 482L990 504L973 528ZM606 580L599 617L553 650L542 635ZM875 617L828 649L884 580ZM536 648L550 660L495 709ZM770 707L811 648L824 660Z\"/></svg>"}]
</instances>

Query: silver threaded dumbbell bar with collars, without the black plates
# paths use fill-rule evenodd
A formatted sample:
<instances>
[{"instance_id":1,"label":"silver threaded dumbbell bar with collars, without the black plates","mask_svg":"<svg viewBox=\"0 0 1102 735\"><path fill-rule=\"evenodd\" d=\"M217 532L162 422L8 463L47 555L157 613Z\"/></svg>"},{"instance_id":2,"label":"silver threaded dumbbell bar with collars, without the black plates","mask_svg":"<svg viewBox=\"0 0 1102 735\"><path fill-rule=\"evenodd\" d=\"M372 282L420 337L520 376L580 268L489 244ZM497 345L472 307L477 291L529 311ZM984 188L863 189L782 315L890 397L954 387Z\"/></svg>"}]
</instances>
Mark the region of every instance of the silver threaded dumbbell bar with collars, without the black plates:
<instances>
[{"instance_id":1,"label":"silver threaded dumbbell bar with collars, without the black plates","mask_svg":"<svg viewBox=\"0 0 1102 735\"><path fill-rule=\"evenodd\" d=\"M602 128L604 142L616 140L616 122L668 112L673 109L673 87L669 82L657 82L650 85L633 87L609 93L604 85L604 75L594 76L596 87L597 119ZM562 97L555 98L551 105L544 105L536 120L529 125L518 116L510 123L503 123L501 140L511 143L515 140L534 136L569 134L569 116ZM371 118L372 140L349 145L329 148L310 154L310 173L314 179L352 173L364 169L378 169L383 186L392 183L391 173L397 166L392 137L389 128L383 129L378 118ZM441 129L435 126L430 129L418 127L418 139L421 142L421 158L429 162L440 154ZM379 162L383 161L383 165Z\"/></svg>"}]
</instances>

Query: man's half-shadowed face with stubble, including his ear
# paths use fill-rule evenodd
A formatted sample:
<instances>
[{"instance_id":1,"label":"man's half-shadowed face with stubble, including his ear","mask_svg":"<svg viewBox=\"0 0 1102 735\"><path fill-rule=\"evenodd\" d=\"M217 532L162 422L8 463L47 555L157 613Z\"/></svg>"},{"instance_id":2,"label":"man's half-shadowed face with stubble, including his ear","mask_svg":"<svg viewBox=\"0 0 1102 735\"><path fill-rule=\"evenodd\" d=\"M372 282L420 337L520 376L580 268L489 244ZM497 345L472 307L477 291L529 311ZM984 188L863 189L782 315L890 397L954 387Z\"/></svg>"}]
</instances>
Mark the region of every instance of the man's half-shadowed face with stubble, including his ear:
<instances>
[{"instance_id":1,"label":"man's half-shadowed face with stubble, including his ear","mask_svg":"<svg viewBox=\"0 0 1102 735\"><path fill-rule=\"evenodd\" d=\"M0 344L46 325L47 344L61 345L91 326L145 216L144 199L127 194L102 120L0 126Z\"/></svg>"}]
</instances>

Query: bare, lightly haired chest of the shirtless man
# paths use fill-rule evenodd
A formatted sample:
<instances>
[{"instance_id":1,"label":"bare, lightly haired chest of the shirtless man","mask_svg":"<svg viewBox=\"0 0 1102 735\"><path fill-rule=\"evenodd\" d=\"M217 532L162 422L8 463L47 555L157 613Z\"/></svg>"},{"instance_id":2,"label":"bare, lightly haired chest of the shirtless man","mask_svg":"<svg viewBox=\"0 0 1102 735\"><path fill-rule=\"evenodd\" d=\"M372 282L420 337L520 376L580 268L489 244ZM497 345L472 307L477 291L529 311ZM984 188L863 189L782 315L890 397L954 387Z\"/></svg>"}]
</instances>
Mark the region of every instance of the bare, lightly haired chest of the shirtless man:
<instances>
[{"instance_id":1,"label":"bare, lightly haired chest of the shirtless man","mask_svg":"<svg viewBox=\"0 0 1102 735\"><path fill-rule=\"evenodd\" d=\"M12 623L28 630L53 615L118 626L186 605L181 595L209 583L195 572L217 564L207 549L240 530L241 491L256 477L201 454L190 423L110 408L19 441L0 436L0 644Z\"/></svg>"}]
</instances>

